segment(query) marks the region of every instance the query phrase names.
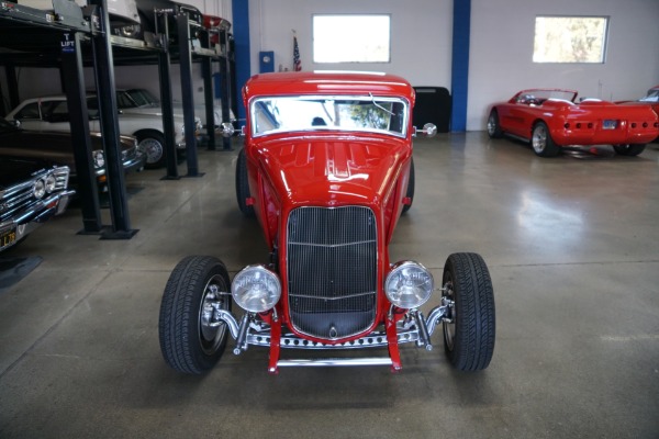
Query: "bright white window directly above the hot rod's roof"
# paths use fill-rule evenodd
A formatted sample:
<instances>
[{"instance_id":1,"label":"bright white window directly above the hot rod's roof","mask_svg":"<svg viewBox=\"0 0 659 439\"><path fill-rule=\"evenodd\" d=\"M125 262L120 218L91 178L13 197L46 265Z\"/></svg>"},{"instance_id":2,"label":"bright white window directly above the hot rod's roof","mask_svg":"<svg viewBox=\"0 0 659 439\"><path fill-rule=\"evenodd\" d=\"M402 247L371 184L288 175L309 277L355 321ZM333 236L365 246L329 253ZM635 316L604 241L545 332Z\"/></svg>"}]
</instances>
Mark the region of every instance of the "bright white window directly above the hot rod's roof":
<instances>
[{"instance_id":1,"label":"bright white window directly above the hot rod's roof","mask_svg":"<svg viewBox=\"0 0 659 439\"><path fill-rule=\"evenodd\" d=\"M313 61L390 63L391 15L313 15Z\"/></svg>"}]
</instances>

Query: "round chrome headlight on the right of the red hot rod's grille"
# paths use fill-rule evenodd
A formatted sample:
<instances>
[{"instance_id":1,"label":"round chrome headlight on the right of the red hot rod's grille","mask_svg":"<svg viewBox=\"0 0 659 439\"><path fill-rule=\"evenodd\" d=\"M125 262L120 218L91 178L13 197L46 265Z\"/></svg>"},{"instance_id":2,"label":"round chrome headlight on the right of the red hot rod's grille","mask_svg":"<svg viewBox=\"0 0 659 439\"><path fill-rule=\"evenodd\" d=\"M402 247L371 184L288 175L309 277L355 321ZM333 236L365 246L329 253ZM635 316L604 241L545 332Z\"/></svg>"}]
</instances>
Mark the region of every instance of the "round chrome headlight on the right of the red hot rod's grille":
<instances>
[{"instance_id":1,"label":"round chrome headlight on the right of the red hot rod's grille","mask_svg":"<svg viewBox=\"0 0 659 439\"><path fill-rule=\"evenodd\" d=\"M399 308L416 308L431 299L435 281L421 263L401 261L393 266L384 282L387 299Z\"/></svg>"}]
</instances>

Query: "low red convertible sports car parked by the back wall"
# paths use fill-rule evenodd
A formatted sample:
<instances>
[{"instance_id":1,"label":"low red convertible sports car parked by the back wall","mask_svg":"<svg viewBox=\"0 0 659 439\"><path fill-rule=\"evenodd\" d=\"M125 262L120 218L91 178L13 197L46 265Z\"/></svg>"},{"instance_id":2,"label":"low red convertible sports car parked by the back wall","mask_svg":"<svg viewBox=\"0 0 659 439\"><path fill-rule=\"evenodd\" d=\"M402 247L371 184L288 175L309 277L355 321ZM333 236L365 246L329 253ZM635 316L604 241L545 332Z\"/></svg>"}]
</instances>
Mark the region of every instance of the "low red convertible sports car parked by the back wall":
<instances>
[{"instance_id":1,"label":"low red convertible sports car parked by the back wall","mask_svg":"<svg viewBox=\"0 0 659 439\"><path fill-rule=\"evenodd\" d=\"M636 156L659 135L659 120L650 105L599 99L577 103L572 90L530 89L492 106L488 134L530 142L540 157L558 155L561 146L604 144L617 154Z\"/></svg>"}]
</instances>

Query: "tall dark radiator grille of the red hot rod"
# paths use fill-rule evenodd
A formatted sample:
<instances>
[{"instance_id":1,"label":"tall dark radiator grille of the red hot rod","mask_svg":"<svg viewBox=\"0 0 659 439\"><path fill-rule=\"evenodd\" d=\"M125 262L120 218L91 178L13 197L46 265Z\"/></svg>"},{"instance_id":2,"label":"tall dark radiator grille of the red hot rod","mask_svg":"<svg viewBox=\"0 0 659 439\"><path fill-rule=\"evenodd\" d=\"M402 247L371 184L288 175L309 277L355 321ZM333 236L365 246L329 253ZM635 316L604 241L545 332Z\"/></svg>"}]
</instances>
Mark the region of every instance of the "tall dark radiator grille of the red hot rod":
<instances>
[{"instance_id":1,"label":"tall dark radiator grille of the red hot rod","mask_svg":"<svg viewBox=\"0 0 659 439\"><path fill-rule=\"evenodd\" d=\"M377 225L368 207L299 207L288 221L293 326L325 339L367 329L377 308Z\"/></svg>"}]
</instances>

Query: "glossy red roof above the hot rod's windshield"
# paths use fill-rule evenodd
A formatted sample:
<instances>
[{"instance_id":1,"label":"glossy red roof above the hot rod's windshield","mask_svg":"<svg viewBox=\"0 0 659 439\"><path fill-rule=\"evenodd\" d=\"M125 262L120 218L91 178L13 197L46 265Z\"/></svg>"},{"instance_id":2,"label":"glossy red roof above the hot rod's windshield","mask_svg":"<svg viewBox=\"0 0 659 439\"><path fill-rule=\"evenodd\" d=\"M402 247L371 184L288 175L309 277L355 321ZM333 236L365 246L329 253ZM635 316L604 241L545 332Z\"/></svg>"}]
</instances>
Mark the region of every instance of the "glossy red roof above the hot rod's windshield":
<instances>
[{"instance_id":1,"label":"glossy red roof above the hot rod's windshield","mask_svg":"<svg viewBox=\"0 0 659 439\"><path fill-rule=\"evenodd\" d=\"M414 89L404 78L360 71L284 71L253 76L243 89L248 102L257 95L365 94L403 97L414 104Z\"/></svg>"}]
</instances>

